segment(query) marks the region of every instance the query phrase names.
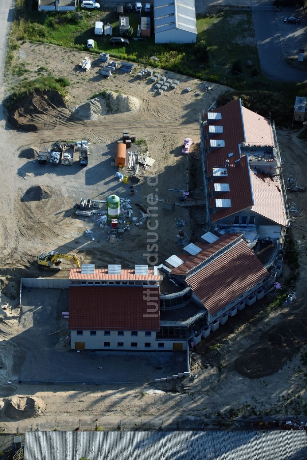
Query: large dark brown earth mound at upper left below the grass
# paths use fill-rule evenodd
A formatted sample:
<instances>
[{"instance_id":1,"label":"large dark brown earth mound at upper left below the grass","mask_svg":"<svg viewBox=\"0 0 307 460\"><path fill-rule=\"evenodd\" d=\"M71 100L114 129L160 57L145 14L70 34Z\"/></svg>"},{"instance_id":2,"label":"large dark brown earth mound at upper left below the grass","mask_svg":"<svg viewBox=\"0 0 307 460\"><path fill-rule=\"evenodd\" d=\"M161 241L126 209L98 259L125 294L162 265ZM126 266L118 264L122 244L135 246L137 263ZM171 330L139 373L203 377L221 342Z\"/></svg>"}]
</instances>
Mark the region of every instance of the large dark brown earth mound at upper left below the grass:
<instances>
[{"instance_id":1,"label":"large dark brown earth mound at upper left below the grass","mask_svg":"<svg viewBox=\"0 0 307 460\"><path fill-rule=\"evenodd\" d=\"M9 111L8 121L16 129L40 131L52 118L60 118L64 100L57 91L33 92L18 100Z\"/></svg>"}]
</instances>

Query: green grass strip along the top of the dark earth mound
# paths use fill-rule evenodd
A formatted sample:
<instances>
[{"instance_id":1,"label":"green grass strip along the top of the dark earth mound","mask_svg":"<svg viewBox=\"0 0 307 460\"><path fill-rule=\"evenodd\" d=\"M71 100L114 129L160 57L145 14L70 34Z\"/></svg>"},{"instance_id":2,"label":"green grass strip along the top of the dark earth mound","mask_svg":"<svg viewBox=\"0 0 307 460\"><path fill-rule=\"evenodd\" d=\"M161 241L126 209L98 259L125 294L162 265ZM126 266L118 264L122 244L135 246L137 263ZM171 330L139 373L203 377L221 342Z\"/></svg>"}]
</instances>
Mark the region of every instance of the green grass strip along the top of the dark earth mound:
<instances>
[{"instance_id":1,"label":"green grass strip along the top of the dark earth mound","mask_svg":"<svg viewBox=\"0 0 307 460\"><path fill-rule=\"evenodd\" d=\"M41 76L35 80L23 80L14 86L12 93L6 99L6 106L10 109L20 99L28 96L34 91L57 91L61 96L65 97L65 87L70 84L65 77L54 78L52 75Z\"/></svg>"}]
</instances>

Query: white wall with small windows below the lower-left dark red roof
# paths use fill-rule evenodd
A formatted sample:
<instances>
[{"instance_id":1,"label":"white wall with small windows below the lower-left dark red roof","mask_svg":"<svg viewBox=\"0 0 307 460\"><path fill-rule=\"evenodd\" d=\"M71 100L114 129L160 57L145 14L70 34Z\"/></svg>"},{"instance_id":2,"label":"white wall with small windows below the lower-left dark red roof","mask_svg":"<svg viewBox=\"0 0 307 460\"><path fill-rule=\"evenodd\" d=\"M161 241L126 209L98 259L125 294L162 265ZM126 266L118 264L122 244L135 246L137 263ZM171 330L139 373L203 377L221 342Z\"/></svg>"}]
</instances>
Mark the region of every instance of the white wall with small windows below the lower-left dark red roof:
<instances>
[{"instance_id":1,"label":"white wall with small windows below the lower-left dark red roof","mask_svg":"<svg viewBox=\"0 0 307 460\"><path fill-rule=\"evenodd\" d=\"M75 350L75 342L84 342L85 350L172 351L174 343L182 343L182 350L187 348L185 340L156 340L155 332L151 332L151 336L146 336L145 331L137 332L138 335L133 336L132 331L124 331L124 335L118 335L118 331L110 331L110 335L105 335L105 331L96 331L96 335L91 335L91 331L82 331L82 334L71 331L71 349ZM108 343L110 345L105 345ZM119 343L123 346L119 346ZM137 346L132 346L132 343Z\"/></svg>"}]
</instances>

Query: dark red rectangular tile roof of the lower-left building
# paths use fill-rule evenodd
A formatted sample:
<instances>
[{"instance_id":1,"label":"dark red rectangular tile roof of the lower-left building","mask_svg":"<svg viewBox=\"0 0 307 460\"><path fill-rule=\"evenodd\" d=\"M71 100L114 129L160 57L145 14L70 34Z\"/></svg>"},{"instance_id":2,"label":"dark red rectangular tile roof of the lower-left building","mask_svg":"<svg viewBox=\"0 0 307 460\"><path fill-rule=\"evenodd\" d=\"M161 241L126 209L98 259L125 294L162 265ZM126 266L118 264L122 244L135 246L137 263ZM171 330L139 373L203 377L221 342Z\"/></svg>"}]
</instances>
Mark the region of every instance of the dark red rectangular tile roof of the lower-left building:
<instances>
[{"instance_id":1,"label":"dark red rectangular tile roof of the lower-left building","mask_svg":"<svg viewBox=\"0 0 307 460\"><path fill-rule=\"evenodd\" d=\"M151 288L149 302L144 288L121 286L70 286L69 329L158 331L160 329L159 288ZM156 302L158 310L154 305ZM151 311L150 311L151 310ZM145 315L154 316L145 316Z\"/></svg>"}]
</instances>

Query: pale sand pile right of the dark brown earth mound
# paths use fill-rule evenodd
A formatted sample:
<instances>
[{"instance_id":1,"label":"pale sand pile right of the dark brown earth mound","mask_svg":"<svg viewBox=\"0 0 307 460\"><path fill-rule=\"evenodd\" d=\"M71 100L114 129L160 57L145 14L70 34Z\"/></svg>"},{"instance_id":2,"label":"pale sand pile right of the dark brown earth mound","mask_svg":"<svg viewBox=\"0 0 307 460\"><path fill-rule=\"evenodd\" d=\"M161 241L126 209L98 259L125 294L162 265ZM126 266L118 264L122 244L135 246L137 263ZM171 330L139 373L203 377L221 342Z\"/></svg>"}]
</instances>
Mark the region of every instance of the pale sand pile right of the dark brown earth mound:
<instances>
[{"instance_id":1,"label":"pale sand pile right of the dark brown earth mound","mask_svg":"<svg viewBox=\"0 0 307 460\"><path fill-rule=\"evenodd\" d=\"M82 121L97 120L102 115L136 111L139 110L139 107L139 99L109 92L75 107L71 118Z\"/></svg>"}]
</instances>

